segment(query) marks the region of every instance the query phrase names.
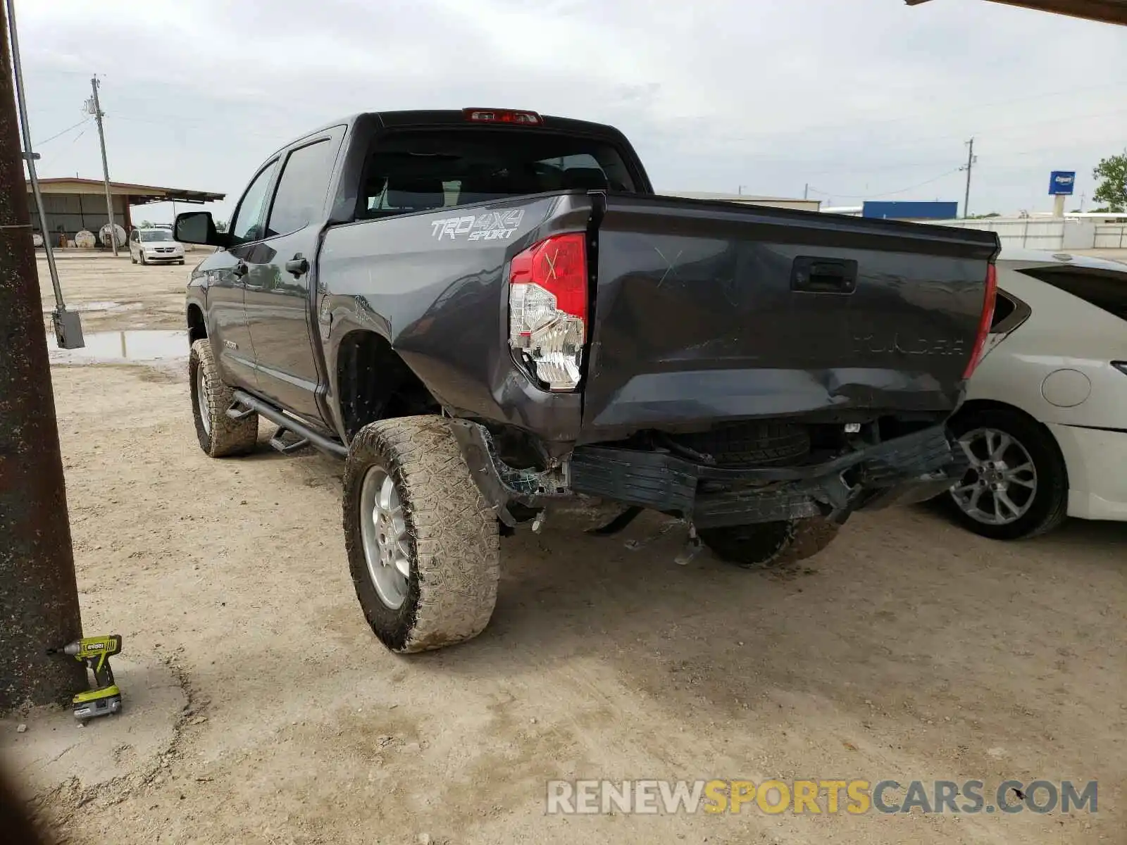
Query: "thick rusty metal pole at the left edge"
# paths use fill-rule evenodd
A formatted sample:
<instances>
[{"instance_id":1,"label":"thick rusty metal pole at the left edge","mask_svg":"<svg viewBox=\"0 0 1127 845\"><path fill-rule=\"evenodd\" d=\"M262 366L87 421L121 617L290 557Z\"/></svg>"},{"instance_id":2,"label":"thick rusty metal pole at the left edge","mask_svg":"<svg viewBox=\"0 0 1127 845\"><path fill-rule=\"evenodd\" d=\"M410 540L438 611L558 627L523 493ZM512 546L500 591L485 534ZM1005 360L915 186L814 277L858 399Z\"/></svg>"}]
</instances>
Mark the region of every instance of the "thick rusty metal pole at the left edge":
<instances>
[{"instance_id":1,"label":"thick rusty metal pole at the left edge","mask_svg":"<svg viewBox=\"0 0 1127 845\"><path fill-rule=\"evenodd\" d=\"M7 23L0 3L0 712L87 685L81 664L46 653L82 621Z\"/></svg>"}]
</instances>

